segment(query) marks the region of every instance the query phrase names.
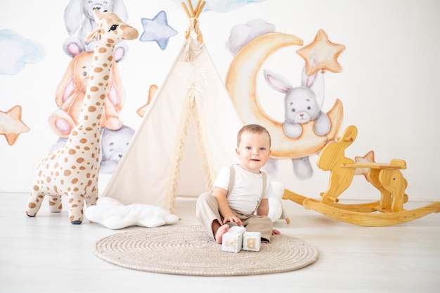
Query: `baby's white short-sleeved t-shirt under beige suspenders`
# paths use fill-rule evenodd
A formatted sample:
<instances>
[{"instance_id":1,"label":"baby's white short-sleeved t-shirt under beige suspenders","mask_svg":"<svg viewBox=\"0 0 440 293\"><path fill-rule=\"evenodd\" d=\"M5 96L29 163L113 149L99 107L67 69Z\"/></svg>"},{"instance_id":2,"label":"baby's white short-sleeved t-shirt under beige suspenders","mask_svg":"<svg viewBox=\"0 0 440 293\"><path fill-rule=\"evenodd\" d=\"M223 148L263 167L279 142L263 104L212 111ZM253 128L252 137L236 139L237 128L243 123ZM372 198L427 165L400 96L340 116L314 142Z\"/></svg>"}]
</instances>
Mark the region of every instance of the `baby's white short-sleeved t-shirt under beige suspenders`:
<instances>
[{"instance_id":1,"label":"baby's white short-sleeved t-shirt under beige suspenders","mask_svg":"<svg viewBox=\"0 0 440 293\"><path fill-rule=\"evenodd\" d=\"M242 169L237 164L233 165L235 168L235 181L231 194L228 195L227 200L229 207L242 214L252 214L257 208L257 204L261 197L263 189L263 176L261 174L254 174L250 171ZM273 188L270 179L266 180L266 192L263 198L273 196ZM223 167L219 176L214 181L213 187L223 188L228 190L229 185L229 167Z\"/></svg>"}]
</instances>

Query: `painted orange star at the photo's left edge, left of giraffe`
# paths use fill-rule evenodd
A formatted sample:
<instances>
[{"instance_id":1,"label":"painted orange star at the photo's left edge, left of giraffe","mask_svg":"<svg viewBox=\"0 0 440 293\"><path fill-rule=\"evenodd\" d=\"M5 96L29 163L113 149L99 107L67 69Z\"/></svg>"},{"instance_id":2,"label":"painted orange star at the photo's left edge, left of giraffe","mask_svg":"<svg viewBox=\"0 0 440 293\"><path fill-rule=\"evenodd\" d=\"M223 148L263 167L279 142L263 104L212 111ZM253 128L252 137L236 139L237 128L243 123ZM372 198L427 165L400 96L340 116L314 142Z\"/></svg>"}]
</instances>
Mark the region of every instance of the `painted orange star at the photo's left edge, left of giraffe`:
<instances>
[{"instance_id":1,"label":"painted orange star at the photo's left edge, left of giraffe","mask_svg":"<svg viewBox=\"0 0 440 293\"><path fill-rule=\"evenodd\" d=\"M9 145L13 145L18 135L30 131L30 128L21 121L21 107L14 106L7 112L0 111L0 134L6 137Z\"/></svg>"}]
</instances>

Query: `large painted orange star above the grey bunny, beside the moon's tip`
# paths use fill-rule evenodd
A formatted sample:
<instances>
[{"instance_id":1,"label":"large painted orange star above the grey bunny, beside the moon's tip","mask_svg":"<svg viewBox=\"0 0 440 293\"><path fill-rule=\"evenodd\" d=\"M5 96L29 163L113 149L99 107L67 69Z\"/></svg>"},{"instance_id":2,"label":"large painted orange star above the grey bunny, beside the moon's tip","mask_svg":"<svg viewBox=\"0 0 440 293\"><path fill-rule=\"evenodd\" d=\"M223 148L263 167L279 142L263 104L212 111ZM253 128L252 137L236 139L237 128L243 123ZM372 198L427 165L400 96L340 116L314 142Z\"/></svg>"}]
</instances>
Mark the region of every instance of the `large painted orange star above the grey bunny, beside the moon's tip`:
<instances>
[{"instance_id":1,"label":"large painted orange star above the grey bunny, beside the moon's tip","mask_svg":"<svg viewBox=\"0 0 440 293\"><path fill-rule=\"evenodd\" d=\"M342 66L337 62L337 58L344 50L344 45L332 43L323 30L318 30L315 39L309 45L298 49L297 53L306 61L306 74L311 76L318 70L341 72ZM317 60L317 66L311 64L313 60Z\"/></svg>"}]
</instances>

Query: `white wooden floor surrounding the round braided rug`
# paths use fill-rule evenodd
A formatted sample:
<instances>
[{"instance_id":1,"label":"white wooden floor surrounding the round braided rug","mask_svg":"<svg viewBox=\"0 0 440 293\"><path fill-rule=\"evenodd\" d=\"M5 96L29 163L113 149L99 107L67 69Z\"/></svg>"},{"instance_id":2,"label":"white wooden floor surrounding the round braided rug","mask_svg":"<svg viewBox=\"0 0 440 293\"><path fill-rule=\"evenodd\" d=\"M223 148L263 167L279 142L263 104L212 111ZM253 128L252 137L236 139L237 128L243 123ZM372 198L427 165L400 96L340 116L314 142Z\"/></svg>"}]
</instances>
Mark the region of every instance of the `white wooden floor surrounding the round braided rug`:
<instances>
[{"instance_id":1,"label":"white wooden floor surrounding the round braided rug","mask_svg":"<svg viewBox=\"0 0 440 293\"><path fill-rule=\"evenodd\" d=\"M440 214L389 227L342 223L285 201L282 233L316 246L318 261L288 273L192 277L132 271L92 252L112 233L98 223L74 226L51 214L47 199L25 216L27 195L0 193L0 292L440 292ZM176 225L198 224L193 198L178 198ZM408 202L406 208L426 202ZM66 210L67 204L65 204ZM137 227L138 228L138 227Z\"/></svg>"}]
</instances>

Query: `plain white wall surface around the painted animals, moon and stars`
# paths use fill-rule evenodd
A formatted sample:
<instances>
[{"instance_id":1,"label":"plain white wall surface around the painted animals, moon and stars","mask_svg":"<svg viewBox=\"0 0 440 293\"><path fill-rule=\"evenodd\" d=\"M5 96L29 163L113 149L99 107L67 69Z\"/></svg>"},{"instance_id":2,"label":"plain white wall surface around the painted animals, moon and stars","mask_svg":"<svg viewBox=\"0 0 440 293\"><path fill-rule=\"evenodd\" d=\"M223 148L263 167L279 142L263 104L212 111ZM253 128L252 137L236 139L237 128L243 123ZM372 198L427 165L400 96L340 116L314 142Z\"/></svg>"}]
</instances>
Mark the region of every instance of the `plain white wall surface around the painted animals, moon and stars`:
<instances>
[{"instance_id":1,"label":"plain white wall surface around the painted animals, moon and stars","mask_svg":"<svg viewBox=\"0 0 440 293\"><path fill-rule=\"evenodd\" d=\"M146 103L150 84L160 86L179 53L188 19L175 1L125 0L129 23L143 32L141 18L152 19L166 11L168 24L179 31L169 39L166 50L155 42L129 42L127 57L119 63L127 102L120 113L124 124L136 129L141 118L136 110ZM63 52L67 37L63 11L67 1L1 1L0 30L15 30L39 42L46 56L28 64L16 75L0 75L0 111L22 105L22 121L31 131L20 134L13 146L0 136L0 191L27 192L34 169L57 137L47 118L56 109L54 93L70 57ZM23 9L25 8L25 9ZM376 162L392 158L406 160L406 193L410 200L440 200L436 150L440 138L440 1L436 0L266 0L228 13L207 11L200 16L200 28L214 63L226 77L233 56L225 47L231 28L254 18L276 26L277 32L295 34L304 45L313 41L319 29L330 41L344 44L338 58L341 73L325 74L325 103L329 110L336 98L344 105L343 128L354 124L358 138L347 149L347 157L375 151ZM299 85L304 62L290 48L274 54L266 66L276 69ZM262 82L264 83L264 82ZM266 112L283 119L282 100L259 87ZM235 136L235 134L231 134ZM311 179L299 181L290 160L280 161L274 180L287 188L318 197L325 191L328 172L316 167ZM349 192L349 193L348 193ZM356 176L344 197L378 198L377 192ZM342 197L339 197L342 198Z\"/></svg>"}]
</instances>

